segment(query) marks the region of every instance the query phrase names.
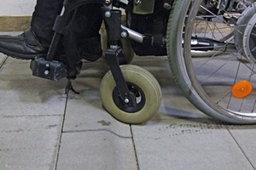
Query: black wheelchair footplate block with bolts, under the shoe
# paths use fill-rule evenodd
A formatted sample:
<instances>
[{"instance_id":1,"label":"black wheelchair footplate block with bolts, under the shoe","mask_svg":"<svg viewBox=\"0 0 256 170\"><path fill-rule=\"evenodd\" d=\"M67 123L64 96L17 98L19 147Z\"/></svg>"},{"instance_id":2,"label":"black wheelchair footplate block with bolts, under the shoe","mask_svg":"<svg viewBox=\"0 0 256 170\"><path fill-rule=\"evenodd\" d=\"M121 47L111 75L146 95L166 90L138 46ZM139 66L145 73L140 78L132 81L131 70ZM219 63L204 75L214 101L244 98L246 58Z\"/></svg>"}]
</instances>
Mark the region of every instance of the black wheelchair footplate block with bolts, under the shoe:
<instances>
[{"instance_id":1,"label":"black wheelchair footplate block with bolts, under the shoe","mask_svg":"<svg viewBox=\"0 0 256 170\"><path fill-rule=\"evenodd\" d=\"M58 81L63 77L67 77L66 66L60 61L48 61L44 58L36 57L30 64L32 75L42 77L49 80Z\"/></svg>"}]
</instances>

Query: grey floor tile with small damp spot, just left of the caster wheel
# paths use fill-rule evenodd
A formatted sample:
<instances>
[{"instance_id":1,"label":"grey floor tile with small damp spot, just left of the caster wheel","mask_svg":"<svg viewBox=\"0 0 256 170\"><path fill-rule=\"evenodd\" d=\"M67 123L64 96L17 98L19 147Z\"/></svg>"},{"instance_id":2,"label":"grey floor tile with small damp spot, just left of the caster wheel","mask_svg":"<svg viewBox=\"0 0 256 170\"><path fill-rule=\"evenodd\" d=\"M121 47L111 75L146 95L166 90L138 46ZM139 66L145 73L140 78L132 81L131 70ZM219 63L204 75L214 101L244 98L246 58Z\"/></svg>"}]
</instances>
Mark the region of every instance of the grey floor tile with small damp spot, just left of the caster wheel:
<instances>
[{"instance_id":1,"label":"grey floor tile with small damp spot, just left of the caster wheel","mask_svg":"<svg viewBox=\"0 0 256 170\"><path fill-rule=\"evenodd\" d=\"M130 126L115 120L102 107L99 87L106 70L104 67L99 69L99 65L102 62L86 65L73 82L73 88L80 94L69 94L63 130L70 132L107 129L120 136L131 137Z\"/></svg>"}]
</instances>

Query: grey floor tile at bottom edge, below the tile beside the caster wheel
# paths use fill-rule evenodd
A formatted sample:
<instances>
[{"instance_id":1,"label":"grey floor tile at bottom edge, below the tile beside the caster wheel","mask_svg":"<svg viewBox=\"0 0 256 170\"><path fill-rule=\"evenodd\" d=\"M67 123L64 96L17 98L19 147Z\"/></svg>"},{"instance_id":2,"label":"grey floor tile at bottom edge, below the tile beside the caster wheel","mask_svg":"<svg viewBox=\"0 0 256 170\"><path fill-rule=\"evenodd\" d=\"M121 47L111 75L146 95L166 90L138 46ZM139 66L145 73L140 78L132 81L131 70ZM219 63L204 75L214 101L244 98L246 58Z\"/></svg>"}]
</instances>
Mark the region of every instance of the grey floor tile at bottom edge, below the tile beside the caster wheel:
<instances>
[{"instance_id":1,"label":"grey floor tile at bottom edge, below the tile beside the caster wheel","mask_svg":"<svg viewBox=\"0 0 256 170\"><path fill-rule=\"evenodd\" d=\"M63 133L58 170L137 170L131 138L108 131Z\"/></svg>"}]
</instances>

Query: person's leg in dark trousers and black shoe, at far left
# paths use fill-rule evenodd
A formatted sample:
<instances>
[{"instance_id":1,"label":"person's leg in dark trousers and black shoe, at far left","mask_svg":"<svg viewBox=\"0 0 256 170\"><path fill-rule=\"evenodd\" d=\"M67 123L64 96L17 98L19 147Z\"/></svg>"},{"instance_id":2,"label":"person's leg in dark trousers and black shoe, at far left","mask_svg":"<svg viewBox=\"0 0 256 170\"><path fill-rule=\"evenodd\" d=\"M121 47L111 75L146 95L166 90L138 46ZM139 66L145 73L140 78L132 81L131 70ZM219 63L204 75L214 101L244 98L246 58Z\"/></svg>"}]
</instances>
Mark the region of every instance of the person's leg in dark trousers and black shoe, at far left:
<instances>
[{"instance_id":1,"label":"person's leg in dark trousers and black shoe, at far left","mask_svg":"<svg viewBox=\"0 0 256 170\"><path fill-rule=\"evenodd\" d=\"M63 0L38 0L32 14L31 28L18 36L0 36L0 53L17 59L34 59L48 53L55 18L61 13Z\"/></svg>"}]
</instances>

